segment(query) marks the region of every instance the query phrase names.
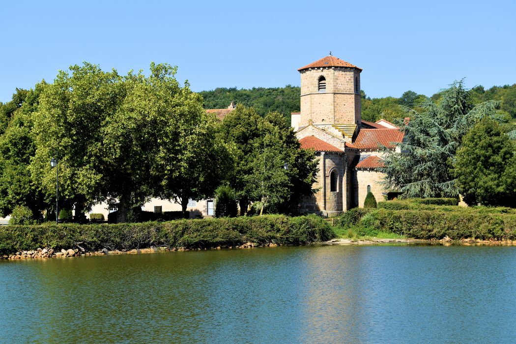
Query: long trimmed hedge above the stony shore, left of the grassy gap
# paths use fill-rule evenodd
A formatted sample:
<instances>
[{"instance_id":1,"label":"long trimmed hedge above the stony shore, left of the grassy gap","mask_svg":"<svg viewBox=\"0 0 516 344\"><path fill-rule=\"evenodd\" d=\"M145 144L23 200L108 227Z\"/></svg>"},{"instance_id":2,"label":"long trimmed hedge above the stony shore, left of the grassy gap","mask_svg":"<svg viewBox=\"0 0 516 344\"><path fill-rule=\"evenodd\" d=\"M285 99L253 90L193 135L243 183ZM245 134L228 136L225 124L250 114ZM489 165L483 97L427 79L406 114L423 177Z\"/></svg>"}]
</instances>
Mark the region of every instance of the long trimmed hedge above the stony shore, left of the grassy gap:
<instances>
[{"instance_id":1,"label":"long trimmed hedge above the stony shore, left of the grassy gap","mask_svg":"<svg viewBox=\"0 0 516 344\"><path fill-rule=\"evenodd\" d=\"M335 236L322 218L260 216L169 222L120 224L64 223L0 227L0 254L36 248L74 248L96 251L129 250L155 246L211 248L246 242L302 245Z\"/></svg>"}]
</instances>

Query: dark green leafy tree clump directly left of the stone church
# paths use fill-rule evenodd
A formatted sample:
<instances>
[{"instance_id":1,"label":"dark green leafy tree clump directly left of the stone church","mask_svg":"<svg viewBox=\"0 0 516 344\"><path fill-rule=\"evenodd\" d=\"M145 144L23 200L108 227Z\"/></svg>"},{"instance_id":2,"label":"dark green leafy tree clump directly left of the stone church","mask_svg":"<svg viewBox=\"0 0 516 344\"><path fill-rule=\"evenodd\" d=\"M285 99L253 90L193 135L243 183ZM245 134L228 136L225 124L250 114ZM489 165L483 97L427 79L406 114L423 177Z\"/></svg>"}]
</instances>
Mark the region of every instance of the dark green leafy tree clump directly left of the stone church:
<instances>
[{"instance_id":1,"label":"dark green leafy tree clump directly left of the stone church","mask_svg":"<svg viewBox=\"0 0 516 344\"><path fill-rule=\"evenodd\" d=\"M235 144L237 163L230 185L237 193L241 212L249 202L260 202L262 213L288 212L302 195L313 192L315 156L300 149L280 113L270 112L262 118L253 109L237 105L224 118L221 132Z\"/></svg>"}]
</instances>

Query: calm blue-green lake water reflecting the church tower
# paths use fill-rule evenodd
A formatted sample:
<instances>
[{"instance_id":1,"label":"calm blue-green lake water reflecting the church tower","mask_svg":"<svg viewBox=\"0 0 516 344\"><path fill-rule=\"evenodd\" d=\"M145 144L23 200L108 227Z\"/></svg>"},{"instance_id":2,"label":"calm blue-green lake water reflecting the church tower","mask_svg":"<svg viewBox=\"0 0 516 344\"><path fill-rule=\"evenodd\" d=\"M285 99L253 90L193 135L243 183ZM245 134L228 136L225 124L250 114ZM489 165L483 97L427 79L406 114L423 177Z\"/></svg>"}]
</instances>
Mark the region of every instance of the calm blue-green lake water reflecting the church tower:
<instances>
[{"instance_id":1,"label":"calm blue-green lake water reflecting the church tower","mask_svg":"<svg viewBox=\"0 0 516 344\"><path fill-rule=\"evenodd\" d=\"M516 342L516 247L0 261L0 342Z\"/></svg>"}]
</instances>

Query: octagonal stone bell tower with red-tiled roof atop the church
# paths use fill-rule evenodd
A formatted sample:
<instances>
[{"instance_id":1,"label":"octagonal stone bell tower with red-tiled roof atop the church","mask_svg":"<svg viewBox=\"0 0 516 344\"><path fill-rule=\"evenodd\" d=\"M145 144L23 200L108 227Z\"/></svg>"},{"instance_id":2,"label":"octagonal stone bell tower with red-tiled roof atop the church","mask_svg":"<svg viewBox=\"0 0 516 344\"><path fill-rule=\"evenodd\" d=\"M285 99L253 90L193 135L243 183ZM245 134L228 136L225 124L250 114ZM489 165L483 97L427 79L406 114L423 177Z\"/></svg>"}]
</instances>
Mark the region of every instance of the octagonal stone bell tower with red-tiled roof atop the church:
<instances>
[{"instance_id":1,"label":"octagonal stone bell tower with red-tiled roof atop the church","mask_svg":"<svg viewBox=\"0 0 516 344\"><path fill-rule=\"evenodd\" d=\"M332 125L345 136L361 126L362 69L331 54L298 69L301 74L299 126Z\"/></svg>"}]
</instances>

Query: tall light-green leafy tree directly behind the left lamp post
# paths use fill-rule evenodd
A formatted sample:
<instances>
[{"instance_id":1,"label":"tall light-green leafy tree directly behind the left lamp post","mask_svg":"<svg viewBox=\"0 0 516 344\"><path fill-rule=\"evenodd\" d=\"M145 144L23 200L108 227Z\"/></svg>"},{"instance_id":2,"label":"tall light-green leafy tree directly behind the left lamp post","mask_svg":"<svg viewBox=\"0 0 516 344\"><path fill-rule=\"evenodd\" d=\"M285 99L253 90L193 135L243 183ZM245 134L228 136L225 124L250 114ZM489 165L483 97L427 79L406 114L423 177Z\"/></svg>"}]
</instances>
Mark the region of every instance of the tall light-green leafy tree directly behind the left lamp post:
<instances>
[{"instance_id":1,"label":"tall light-green leafy tree directly behind the left lamp post","mask_svg":"<svg viewBox=\"0 0 516 344\"><path fill-rule=\"evenodd\" d=\"M50 201L55 197L56 171L51 157L59 160L59 203L75 207L82 215L89 204L102 199L105 145L102 129L124 98L122 78L116 71L103 72L85 62L60 71L40 95L32 135L36 152L31 176Z\"/></svg>"}]
</instances>

